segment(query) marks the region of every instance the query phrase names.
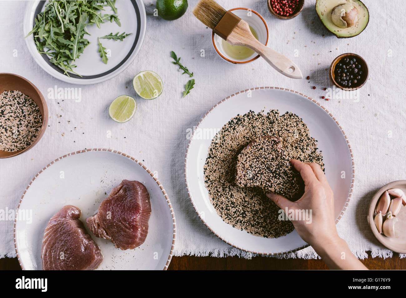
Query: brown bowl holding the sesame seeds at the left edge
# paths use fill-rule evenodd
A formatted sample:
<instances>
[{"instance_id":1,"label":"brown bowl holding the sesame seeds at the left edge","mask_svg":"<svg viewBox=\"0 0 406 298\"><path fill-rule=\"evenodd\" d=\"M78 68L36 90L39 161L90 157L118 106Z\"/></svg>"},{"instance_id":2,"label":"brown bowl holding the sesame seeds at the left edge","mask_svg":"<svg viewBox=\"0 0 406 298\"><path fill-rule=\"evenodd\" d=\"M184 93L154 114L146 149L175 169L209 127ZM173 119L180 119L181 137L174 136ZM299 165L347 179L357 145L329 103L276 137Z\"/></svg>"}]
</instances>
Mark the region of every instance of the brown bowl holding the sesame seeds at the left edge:
<instances>
[{"instance_id":1,"label":"brown bowl holding the sesame seeds at the left edge","mask_svg":"<svg viewBox=\"0 0 406 298\"><path fill-rule=\"evenodd\" d=\"M42 127L41 127L41 130L39 131L37 138L35 139L35 141L33 141L31 143L30 146L28 146L27 148L24 148L22 150L16 151L16 152L7 152L7 151L0 150L0 158L13 157L13 156L21 154L27 150L30 150L41 139L41 137L45 133L45 129L48 125L47 103L45 102L44 96L41 94L41 92L30 81L28 81L24 77L15 75L13 73L0 73L0 94L6 90L21 91L22 93L26 94L27 96L30 96L30 98L33 101L35 101L35 103L39 107L39 110L41 111Z\"/></svg>"}]
</instances>

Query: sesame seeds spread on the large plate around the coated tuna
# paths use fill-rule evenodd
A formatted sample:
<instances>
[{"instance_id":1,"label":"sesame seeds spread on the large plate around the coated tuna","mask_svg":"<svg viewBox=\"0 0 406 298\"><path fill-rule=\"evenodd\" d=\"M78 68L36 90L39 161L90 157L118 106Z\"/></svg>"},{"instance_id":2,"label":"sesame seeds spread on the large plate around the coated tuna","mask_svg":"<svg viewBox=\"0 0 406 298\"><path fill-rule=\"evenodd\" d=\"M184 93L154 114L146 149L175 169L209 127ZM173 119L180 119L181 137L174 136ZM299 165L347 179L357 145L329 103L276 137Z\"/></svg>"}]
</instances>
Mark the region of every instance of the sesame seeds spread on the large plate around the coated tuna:
<instances>
[{"instance_id":1,"label":"sesame seeds spread on the large plate around the coated tuna","mask_svg":"<svg viewBox=\"0 0 406 298\"><path fill-rule=\"evenodd\" d=\"M287 159L315 162L324 170L317 141L310 136L300 117L289 112L280 115L278 110L266 114L249 111L232 118L214 137L204 166L204 178L210 201L225 223L255 236L277 238L292 232L292 223L278 219L280 208L265 196L266 191L235 183L238 155L251 141L266 135L281 138ZM274 187L281 190L280 194L289 196L298 191L298 186L295 179L282 181L280 172L287 171L292 171L290 165L274 173L277 177L274 182L283 183ZM268 185L272 185L272 181Z\"/></svg>"}]
</instances>

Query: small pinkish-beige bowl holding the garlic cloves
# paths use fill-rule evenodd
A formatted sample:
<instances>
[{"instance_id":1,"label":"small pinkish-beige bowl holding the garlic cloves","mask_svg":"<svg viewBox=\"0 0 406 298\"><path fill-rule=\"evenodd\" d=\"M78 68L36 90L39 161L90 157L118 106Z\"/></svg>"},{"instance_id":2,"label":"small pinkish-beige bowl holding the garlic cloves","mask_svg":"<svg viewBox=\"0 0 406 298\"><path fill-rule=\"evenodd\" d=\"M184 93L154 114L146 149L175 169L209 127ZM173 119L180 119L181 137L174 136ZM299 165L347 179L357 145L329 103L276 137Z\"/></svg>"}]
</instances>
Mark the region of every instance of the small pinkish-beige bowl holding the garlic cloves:
<instances>
[{"instance_id":1,"label":"small pinkish-beige bowl holding the garlic cloves","mask_svg":"<svg viewBox=\"0 0 406 298\"><path fill-rule=\"evenodd\" d=\"M384 191L392 188L402 189L402 191L406 193L406 180L393 181L384 185L379 191L376 192L369 203L367 220L372 233L384 247L387 247L396 253L406 253L406 206L403 206L400 209L400 212L396 215L398 221L395 223L395 237L389 238L384 234L379 234L374 222L374 217L376 214L375 209L379 198Z\"/></svg>"}]
</instances>

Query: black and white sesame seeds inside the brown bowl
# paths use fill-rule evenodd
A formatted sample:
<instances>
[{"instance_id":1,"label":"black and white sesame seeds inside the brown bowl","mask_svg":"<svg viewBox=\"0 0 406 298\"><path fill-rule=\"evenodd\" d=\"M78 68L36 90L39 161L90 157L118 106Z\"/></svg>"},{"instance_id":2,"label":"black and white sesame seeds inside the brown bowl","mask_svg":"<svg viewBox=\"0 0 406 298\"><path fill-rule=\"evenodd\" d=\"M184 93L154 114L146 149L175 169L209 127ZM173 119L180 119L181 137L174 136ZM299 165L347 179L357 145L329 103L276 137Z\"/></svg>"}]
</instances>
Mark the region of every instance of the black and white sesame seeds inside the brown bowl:
<instances>
[{"instance_id":1,"label":"black and white sesame seeds inside the brown bowl","mask_svg":"<svg viewBox=\"0 0 406 298\"><path fill-rule=\"evenodd\" d=\"M42 126L38 105L18 90L0 94L0 150L16 152L32 144Z\"/></svg>"}]
</instances>

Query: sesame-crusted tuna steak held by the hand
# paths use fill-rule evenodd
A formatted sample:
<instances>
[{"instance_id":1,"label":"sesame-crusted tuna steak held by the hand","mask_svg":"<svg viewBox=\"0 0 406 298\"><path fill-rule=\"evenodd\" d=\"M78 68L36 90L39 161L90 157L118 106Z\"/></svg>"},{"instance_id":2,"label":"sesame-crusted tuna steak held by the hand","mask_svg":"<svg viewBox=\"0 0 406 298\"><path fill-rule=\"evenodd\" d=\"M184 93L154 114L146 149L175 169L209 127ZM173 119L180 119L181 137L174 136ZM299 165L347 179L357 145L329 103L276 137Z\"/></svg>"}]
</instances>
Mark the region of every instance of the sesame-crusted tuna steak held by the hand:
<instances>
[{"instance_id":1,"label":"sesame-crusted tuna steak held by the hand","mask_svg":"<svg viewBox=\"0 0 406 298\"><path fill-rule=\"evenodd\" d=\"M266 135L255 139L238 155L235 183L296 201L304 193L304 183L289 160L280 137Z\"/></svg>"}]
</instances>

